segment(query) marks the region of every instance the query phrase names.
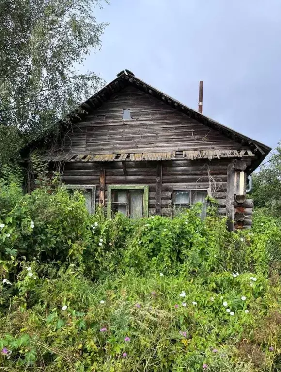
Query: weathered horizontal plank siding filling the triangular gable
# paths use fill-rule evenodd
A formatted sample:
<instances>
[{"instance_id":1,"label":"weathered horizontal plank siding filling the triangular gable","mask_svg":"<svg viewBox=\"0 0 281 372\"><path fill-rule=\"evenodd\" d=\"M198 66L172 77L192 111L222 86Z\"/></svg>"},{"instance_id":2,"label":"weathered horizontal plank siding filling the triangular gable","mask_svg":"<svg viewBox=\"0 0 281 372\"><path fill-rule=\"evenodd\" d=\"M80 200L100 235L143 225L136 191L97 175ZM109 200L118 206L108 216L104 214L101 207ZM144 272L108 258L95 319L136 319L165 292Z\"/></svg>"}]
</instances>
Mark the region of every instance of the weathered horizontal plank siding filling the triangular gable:
<instances>
[{"instance_id":1,"label":"weathered horizontal plank siding filling the triangular gable","mask_svg":"<svg viewBox=\"0 0 281 372\"><path fill-rule=\"evenodd\" d=\"M123 120L123 109L130 109L131 120ZM76 154L244 148L131 86L113 95L62 137L59 148Z\"/></svg>"}]
</instances>

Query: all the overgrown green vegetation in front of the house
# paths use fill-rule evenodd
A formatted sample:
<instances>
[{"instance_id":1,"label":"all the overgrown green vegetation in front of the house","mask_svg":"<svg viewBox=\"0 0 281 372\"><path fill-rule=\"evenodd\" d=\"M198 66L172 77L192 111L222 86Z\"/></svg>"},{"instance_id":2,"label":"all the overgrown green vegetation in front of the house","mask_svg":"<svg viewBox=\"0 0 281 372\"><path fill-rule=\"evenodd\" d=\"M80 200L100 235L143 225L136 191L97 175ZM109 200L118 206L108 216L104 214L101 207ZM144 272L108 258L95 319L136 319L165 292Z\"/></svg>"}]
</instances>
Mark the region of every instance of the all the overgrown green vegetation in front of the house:
<instances>
[{"instance_id":1,"label":"all the overgrown green vegetation in front of the house","mask_svg":"<svg viewBox=\"0 0 281 372\"><path fill-rule=\"evenodd\" d=\"M55 179L55 178L54 178ZM55 179L56 180L56 179ZM83 196L0 181L4 371L278 371L281 229L229 233L200 204L170 219L89 216Z\"/></svg>"}]
</instances>

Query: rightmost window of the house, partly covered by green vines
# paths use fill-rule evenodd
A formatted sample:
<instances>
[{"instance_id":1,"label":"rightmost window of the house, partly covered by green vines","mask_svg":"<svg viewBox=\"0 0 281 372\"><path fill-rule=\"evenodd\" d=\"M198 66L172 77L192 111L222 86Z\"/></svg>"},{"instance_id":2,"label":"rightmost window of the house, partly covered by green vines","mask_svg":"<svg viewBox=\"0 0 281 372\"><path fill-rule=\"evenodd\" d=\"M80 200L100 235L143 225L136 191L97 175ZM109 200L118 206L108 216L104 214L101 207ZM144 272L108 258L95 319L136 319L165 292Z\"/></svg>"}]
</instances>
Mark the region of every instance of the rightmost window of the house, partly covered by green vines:
<instances>
[{"instance_id":1,"label":"rightmost window of the house, partly covered by green vines","mask_svg":"<svg viewBox=\"0 0 281 372\"><path fill-rule=\"evenodd\" d=\"M181 209L190 208L190 205L196 204L198 202L203 203L201 218L207 216L207 206L208 202L206 197L208 195L207 190L187 190L179 189L173 190L173 205L176 211Z\"/></svg>"}]
</instances>

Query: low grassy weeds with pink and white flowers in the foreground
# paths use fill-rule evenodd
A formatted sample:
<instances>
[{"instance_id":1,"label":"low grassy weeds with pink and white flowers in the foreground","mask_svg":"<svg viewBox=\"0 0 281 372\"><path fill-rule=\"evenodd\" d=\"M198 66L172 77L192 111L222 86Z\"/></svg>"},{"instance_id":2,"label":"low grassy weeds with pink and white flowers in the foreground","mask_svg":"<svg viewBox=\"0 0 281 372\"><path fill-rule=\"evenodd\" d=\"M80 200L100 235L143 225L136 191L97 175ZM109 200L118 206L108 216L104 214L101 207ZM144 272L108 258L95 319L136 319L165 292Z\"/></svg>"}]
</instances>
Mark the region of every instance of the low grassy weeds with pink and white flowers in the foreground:
<instances>
[{"instance_id":1,"label":"low grassy weeds with pink and white flowers in the foreground","mask_svg":"<svg viewBox=\"0 0 281 372\"><path fill-rule=\"evenodd\" d=\"M251 273L128 272L93 283L75 265L52 279L40 276L39 266L31 269L32 277L23 268L16 286L24 290L16 295L14 288L0 318L0 346L9 353L0 356L1 365L9 371L29 365L31 371L44 371L42 365L47 371L203 371L207 364L209 371L248 372L274 371L278 363L280 279L273 285Z\"/></svg>"}]
</instances>

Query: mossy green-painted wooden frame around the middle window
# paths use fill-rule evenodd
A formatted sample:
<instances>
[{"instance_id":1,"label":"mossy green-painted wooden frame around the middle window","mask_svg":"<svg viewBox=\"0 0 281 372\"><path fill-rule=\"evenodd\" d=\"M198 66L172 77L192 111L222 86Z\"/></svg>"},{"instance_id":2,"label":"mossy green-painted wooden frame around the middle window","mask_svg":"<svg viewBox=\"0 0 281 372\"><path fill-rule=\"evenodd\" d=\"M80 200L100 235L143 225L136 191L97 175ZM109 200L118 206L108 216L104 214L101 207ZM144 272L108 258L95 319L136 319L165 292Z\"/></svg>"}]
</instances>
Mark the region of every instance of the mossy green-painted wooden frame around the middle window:
<instances>
[{"instance_id":1,"label":"mossy green-painted wooden frame around the middle window","mask_svg":"<svg viewBox=\"0 0 281 372\"><path fill-rule=\"evenodd\" d=\"M112 217L112 191L114 190L125 190L125 191L134 191L134 190L143 190L142 198L142 217L148 217L148 186L147 185L108 185L108 207L107 207L107 217ZM118 204L118 203L117 203ZM125 205L125 203L120 203ZM128 209L128 203L126 203Z\"/></svg>"}]
</instances>

